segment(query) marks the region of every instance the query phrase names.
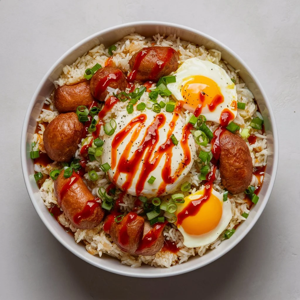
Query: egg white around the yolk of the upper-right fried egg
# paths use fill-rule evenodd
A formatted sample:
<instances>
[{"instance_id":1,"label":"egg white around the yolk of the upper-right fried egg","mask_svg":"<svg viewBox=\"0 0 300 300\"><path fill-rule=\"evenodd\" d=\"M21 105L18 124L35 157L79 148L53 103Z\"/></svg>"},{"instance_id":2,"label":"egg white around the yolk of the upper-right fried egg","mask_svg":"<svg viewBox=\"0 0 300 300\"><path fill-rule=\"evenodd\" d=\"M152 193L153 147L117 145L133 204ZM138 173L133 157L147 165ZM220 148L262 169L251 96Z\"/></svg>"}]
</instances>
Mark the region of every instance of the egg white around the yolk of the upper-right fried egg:
<instances>
[{"instance_id":1,"label":"egg white around the yolk of the upper-right fried egg","mask_svg":"<svg viewBox=\"0 0 300 300\"><path fill-rule=\"evenodd\" d=\"M205 76L212 79L218 85L224 97L224 102L219 104L212 112L208 109L207 105L202 108L201 115L204 115L207 121L220 123L220 116L222 110L225 108L228 108L234 114L234 117L236 117L237 110L233 110L231 106L232 101L237 101L235 84L231 81L226 71L217 64L211 61L200 60L197 57L189 58L184 61L173 75L176 76L176 82L169 83L167 88L178 101L185 101L182 97L181 89L190 76ZM194 112L194 109L187 104L184 104L183 108L189 110L191 113Z\"/></svg>"}]
</instances>

